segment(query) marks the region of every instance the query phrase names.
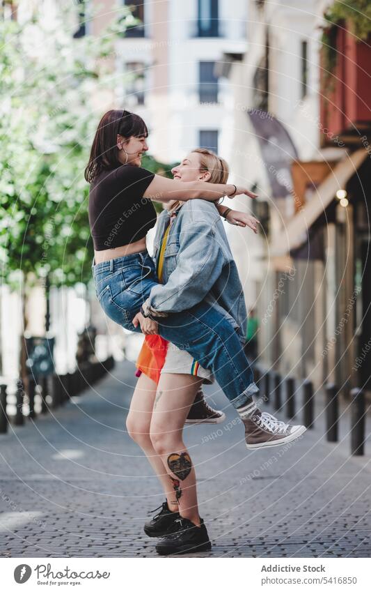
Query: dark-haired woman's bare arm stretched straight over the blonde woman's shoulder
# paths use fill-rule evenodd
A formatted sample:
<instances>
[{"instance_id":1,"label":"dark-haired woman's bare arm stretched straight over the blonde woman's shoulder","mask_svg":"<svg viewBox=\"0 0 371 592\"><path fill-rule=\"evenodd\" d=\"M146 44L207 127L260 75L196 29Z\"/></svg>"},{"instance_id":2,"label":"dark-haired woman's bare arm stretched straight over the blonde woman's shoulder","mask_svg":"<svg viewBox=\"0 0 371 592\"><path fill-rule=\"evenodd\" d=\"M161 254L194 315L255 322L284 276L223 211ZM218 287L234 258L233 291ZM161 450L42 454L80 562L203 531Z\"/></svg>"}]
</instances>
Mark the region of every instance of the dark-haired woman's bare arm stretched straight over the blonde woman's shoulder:
<instances>
[{"instance_id":1,"label":"dark-haired woman's bare arm stretched straight over the blonde woman's shoulder","mask_svg":"<svg viewBox=\"0 0 371 592\"><path fill-rule=\"evenodd\" d=\"M189 199L206 199L207 202L214 202L216 199L228 195L247 195L257 197L246 187L236 185L225 185L224 183L205 183L205 181L179 181L178 179L166 179L161 175L155 175L143 197L153 199L156 202L171 202L172 199L179 199L180 202L188 202Z\"/></svg>"}]
</instances>

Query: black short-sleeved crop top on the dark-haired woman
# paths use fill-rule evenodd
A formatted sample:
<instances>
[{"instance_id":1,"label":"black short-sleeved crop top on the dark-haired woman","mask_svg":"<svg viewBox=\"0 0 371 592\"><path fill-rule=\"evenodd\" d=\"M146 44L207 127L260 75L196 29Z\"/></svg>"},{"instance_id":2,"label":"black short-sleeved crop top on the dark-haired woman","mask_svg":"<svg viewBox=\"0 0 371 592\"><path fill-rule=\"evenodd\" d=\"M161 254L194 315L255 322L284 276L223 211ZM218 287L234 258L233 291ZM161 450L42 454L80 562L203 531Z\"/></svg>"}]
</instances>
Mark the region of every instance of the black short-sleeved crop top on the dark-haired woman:
<instances>
[{"instance_id":1,"label":"black short-sleeved crop top on the dark-haired woman","mask_svg":"<svg viewBox=\"0 0 371 592\"><path fill-rule=\"evenodd\" d=\"M154 176L141 167L121 165L95 177L88 210L96 251L139 241L155 226L155 208L143 197Z\"/></svg>"}]
</instances>

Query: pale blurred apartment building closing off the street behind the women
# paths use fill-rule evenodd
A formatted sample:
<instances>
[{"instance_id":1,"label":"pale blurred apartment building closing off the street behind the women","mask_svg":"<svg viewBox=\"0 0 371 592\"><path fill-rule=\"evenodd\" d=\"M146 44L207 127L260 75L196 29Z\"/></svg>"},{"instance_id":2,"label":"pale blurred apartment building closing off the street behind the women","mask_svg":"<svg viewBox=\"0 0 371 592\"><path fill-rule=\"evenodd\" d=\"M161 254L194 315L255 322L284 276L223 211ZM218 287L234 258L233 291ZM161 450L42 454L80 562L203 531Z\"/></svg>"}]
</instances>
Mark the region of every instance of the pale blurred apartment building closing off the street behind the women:
<instances>
[{"instance_id":1,"label":"pale blurred apartment building closing off the street behind the women","mask_svg":"<svg viewBox=\"0 0 371 592\"><path fill-rule=\"evenodd\" d=\"M224 54L246 51L247 3L235 0L92 0L101 6L90 25L99 34L120 3L133 26L117 45L116 103L141 114L150 151L174 162L194 146L228 158L232 146L232 89L220 76Z\"/></svg>"}]
</instances>

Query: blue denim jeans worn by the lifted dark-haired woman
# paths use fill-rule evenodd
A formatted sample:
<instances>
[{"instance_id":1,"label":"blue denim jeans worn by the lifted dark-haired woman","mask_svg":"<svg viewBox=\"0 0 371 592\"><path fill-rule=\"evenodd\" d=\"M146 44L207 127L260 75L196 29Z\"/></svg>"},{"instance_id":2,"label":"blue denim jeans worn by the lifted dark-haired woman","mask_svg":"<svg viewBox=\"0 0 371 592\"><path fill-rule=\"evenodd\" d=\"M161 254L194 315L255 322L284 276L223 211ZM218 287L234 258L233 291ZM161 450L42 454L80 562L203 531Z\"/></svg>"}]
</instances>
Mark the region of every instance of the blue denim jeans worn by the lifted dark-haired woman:
<instances>
[{"instance_id":1,"label":"blue denim jeans worn by the lifted dark-haired woman","mask_svg":"<svg viewBox=\"0 0 371 592\"><path fill-rule=\"evenodd\" d=\"M132 319L158 284L155 264L147 251L92 265L95 291L107 317L129 331ZM202 281L202 278L200 278ZM200 365L212 370L234 407L251 401L258 387L235 329L223 314L206 303L159 317L159 334L186 349Z\"/></svg>"}]
</instances>

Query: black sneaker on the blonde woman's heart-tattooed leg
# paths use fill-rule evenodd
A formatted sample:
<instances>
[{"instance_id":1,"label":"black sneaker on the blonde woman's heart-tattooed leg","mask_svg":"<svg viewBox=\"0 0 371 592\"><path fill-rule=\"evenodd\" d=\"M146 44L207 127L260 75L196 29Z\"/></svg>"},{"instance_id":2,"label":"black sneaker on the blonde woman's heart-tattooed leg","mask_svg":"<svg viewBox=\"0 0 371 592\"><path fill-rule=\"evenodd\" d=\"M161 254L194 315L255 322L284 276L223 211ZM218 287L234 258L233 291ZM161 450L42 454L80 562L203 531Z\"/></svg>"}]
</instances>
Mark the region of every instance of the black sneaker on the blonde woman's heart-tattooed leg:
<instances>
[{"instance_id":1,"label":"black sneaker on the blonde woman's heart-tattooed leg","mask_svg":"<svg viewBox=\"0 0 371 592\"><path fill-rule=\"evenodd\" d=\"M206 526L201 519L201 526L195 526L187 518L176 520L177 531L164 536L157 542L156 551L159 555L180 555L182 553L199 553L210 551L212 544Z\"/></svg>"}]
</instances>

